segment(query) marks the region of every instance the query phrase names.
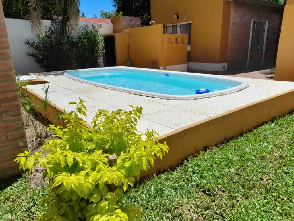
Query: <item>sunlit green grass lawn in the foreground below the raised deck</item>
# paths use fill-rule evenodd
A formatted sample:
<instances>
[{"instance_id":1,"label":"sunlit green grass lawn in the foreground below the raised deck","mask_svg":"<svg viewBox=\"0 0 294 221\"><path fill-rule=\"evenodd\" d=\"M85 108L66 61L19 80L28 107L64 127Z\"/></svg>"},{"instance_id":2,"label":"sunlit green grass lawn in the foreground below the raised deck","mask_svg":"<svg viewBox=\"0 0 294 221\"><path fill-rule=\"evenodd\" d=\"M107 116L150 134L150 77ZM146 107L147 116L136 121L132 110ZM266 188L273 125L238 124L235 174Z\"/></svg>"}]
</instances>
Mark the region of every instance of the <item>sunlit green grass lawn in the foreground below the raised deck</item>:
<instances>
[{"instance_id":1,"label":"sunlit green grass lawn in the foreground below the raised deck","mask_svg":"<svg viewBox=\"0 0 294 221\"><path fill-rule=\"evenodd\" d=\"M125 201L143 220L294 220L293 122L294 114L275 119L189 158L140 182ZM29 221L44 209L46 190L29 189L26 175L1 189L0 217Z\"/></svg>"}]
</instances>

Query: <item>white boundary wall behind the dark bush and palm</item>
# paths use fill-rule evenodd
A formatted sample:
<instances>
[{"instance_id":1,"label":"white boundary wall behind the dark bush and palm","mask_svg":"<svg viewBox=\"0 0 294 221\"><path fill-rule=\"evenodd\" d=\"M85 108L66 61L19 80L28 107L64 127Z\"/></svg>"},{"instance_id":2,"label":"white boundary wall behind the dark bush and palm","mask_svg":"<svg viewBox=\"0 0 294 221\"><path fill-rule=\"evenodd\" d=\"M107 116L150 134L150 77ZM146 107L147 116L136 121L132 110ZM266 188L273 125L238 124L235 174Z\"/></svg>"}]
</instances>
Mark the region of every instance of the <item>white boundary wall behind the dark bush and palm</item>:
<instances>
[{"instance_id":1,"label":"white boundary wall behind the dark bush and palm","mask_svg":"<svg viewBox=\"0 0 294 221\"><path fill-rule=\"evenodd\" d=\"M43 72L44 69L40 68L31 56L26 55L30 51L25 44L26 40L29 38L37 39L36 35L31 32L31 22L29 20L7 18L5 21L16 75ZM42 23L44 27L51 25L49 20L43 20ZM80 27L83 27L84 24L88 24L89 27L92 27L92 24L97 25L96 23L79 22ZM111 23L101 24L101 26L101 34L113 33Z\"/></svg>"}]
</instances>

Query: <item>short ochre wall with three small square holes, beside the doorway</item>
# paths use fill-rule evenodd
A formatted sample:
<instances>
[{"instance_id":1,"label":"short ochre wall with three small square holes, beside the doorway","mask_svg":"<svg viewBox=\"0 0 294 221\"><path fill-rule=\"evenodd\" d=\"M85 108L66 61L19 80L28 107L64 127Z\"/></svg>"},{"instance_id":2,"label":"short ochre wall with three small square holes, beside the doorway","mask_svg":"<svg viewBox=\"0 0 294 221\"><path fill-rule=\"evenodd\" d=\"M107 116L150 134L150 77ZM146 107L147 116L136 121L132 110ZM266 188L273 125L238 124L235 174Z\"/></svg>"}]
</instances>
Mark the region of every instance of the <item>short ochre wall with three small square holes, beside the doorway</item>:
<instances>
[{"instance_id":1,"label":"short ochre wall with three small square holes, beside the doorway","mask_svg":"<svg viewBox=\"0 0 294 221\"><path fill-rule=\"evenodd\" d=\"M168 38L170 38L170 44L168 44ZM166 70L166 66L168 65L186 64L187 47L188 34L163 34L163 69Z\"/></svg>"}]
</instances>

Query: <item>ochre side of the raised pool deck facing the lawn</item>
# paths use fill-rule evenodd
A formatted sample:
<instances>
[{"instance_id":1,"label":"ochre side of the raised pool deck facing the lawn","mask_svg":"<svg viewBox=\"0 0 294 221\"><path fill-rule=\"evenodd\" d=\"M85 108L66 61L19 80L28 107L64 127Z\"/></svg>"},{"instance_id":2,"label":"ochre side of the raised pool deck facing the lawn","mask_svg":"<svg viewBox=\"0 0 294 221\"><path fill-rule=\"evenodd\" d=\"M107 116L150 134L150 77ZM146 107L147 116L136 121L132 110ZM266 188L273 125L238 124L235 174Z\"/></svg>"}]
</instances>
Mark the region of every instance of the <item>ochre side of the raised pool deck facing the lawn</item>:
<instances>
[{"instance_id":1,"label":"ochre side of the raised pool deck facing the lawn","mask_svg":"<svg viewBox=\"0 0 294 221\"><path fill-rule=\"evenodd\" d=\"M217 145L226 138L238 136L272 118L286 115L294 110L293 97L294 90L284 92L160 136L159 141L166 141L169 147L168 154L162 160L156 159L154 167L141 176L148 177L178 166L205 147Z\"/></svg>"}]
</instances>

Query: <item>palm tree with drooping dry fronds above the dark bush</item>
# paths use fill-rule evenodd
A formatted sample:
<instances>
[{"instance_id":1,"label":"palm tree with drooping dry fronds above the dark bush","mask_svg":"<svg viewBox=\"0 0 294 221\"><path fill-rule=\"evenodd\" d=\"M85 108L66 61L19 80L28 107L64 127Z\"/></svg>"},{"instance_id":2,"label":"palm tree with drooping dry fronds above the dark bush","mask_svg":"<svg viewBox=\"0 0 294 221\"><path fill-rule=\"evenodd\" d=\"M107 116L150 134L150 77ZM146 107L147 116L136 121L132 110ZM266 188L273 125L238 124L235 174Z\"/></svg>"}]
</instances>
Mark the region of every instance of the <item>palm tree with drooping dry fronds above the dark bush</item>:
<instances>
[{"instance_id":1,"label":"palm tree with drooping dry fronds above the dark bush","mask_svg":"<svg viewBox=\"0 0 294 221\"><path fill-rule=\"evenodd\" d=\"M50 19L57 36L71 36L78 29L80 0L31 0L32 29L43 29L41 19Z\"/></svg>"}]
</instances>

